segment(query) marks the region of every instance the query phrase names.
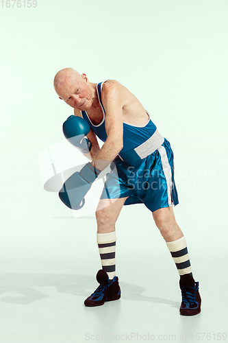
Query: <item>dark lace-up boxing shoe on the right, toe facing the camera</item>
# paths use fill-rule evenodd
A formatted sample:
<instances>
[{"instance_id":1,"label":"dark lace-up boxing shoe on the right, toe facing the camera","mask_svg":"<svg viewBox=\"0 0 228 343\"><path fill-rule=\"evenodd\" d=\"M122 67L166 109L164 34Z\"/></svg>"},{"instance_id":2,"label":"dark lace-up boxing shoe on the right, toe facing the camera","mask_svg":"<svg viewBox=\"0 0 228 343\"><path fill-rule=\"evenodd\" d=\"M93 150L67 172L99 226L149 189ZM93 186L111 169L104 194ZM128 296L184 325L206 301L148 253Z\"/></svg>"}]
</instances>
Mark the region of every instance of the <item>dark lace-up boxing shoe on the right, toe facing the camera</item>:
<instances>
[{"instance_id":1,"label":"dark lace-up boxing shoe on the right, toe facing the camera","mask_svg":"<svg viewBox=\"0 0 228 343\"><path fill-rule=\"evenodd\" d=\"M181 275L179 281L182 303L179 312L182 316L194 316L201 311L199 282L195 282L190 274Z\"/></svg>"}]
</instances>

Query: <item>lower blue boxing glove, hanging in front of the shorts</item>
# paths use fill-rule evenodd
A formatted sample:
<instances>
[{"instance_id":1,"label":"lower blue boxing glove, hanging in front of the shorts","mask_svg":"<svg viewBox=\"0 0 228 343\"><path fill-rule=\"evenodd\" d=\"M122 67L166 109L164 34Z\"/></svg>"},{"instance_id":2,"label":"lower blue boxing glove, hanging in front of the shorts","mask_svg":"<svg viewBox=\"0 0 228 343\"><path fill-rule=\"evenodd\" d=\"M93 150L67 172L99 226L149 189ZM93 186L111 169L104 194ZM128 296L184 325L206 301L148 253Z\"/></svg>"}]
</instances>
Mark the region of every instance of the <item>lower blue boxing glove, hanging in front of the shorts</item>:
<instances>
[{"instance_id":1,"label":"lower blue boxing glove, hanging in front of the shorts","mask_svg":"<svg viewBox=\"0 0 228 343\"><path fill-rule=\"evenodd\" d=\"M93 167L92 163L86 165L71 175L59 191L59 197L69 209L79 210L85 204L84 196L92 186L101 171Z\"/></svg>"}]
</instances>

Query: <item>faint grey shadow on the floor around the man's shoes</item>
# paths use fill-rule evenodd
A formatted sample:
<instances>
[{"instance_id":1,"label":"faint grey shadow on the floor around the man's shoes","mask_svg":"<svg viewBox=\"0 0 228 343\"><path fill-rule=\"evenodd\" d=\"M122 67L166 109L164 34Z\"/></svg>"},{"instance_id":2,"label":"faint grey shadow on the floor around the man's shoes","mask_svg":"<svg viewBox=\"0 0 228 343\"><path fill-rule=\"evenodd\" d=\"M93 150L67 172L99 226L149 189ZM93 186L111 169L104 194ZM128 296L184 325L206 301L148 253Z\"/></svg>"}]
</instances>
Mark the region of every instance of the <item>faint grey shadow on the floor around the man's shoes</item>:
<instances>
[{"instance_id":1,"label":"faint grey shadow on the floor around the man's shoes","mask_svg":"<svg viewBox=\"0 0 228 343\"><path fill-rule=\"evenodd\" d=\"M34 303L37 300L49 298L50 295L45 293L45 287L55 287L55 290L59 293L87 298L97 286L94 276L88 275L1 273L0 300L14 304ZM44 287L43 291L42 287ZM179 307L179 303L172 300L143 296L142 292L144 290L144 287L121 283L121 298Z\"/></svg>"}]
</instances>

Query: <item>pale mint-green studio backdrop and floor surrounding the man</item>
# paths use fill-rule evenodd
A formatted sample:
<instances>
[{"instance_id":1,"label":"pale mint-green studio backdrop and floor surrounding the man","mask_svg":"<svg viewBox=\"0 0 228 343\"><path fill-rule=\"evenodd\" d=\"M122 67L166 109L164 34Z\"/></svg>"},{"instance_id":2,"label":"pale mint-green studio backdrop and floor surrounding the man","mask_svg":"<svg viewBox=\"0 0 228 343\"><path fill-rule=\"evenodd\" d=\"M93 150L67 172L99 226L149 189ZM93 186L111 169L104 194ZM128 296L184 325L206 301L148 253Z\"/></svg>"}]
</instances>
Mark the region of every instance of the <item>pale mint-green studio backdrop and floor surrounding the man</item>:
<instances>
[{"instance_id":1,"label":"pale mint-green studio backdrop and floor surrounding the man","mask_svg":"<svg viewBox=\"0 0 228 343\"><path fill-rule=\"evenodd\" d=\"M227 12L226 0L0 2L1 342L226 331ZM127 86L170 141L199 316L179 316L175 264L141 204L116 224L121 301L84 307L100 268L94 215L75 219L38 166L73 113L53 90L64 67Z\"/></svg>"}]
</instances>

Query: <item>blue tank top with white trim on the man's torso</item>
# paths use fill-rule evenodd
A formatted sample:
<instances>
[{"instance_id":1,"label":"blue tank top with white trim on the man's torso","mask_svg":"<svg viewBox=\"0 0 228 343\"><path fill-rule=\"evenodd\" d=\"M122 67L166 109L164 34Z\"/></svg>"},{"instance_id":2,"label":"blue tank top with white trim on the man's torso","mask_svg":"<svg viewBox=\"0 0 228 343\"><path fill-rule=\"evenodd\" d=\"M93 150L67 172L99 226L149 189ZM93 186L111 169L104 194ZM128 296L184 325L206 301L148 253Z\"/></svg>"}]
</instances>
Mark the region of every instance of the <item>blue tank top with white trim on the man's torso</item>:
<instances>
[{"instance_id":1,"label":"blue tank top with white trim on the man's torso","mask_svg":"<svg viewBox=\"0 0 228 343\"><path fill-rule=\"evenodd\" d=\"M91 130L94 132L94 134L97 134L97 137L99 137L99 139L101 139L101 141L103 142L105 142L107 139L107 133L105 130L105 109L101 101L101 91L104 82L105 81L97 84L97 95L99 103L101 105L101 109L103 111L103 119L101 123L99 123L99 125L93 125L86 111L81 111L82 117L88 122ZM147 114L149 116L149 113ZM144 143L144 141L147 141L147 139L149 139L152 134L154 134L155 130L156 126L153 121L151 121L150 117L145 126L133 126L131 124L123 122L123 149L121 150L121 152L127 152L129 150L135 149L136 147Z\"/></svg>"}]
</instances>

